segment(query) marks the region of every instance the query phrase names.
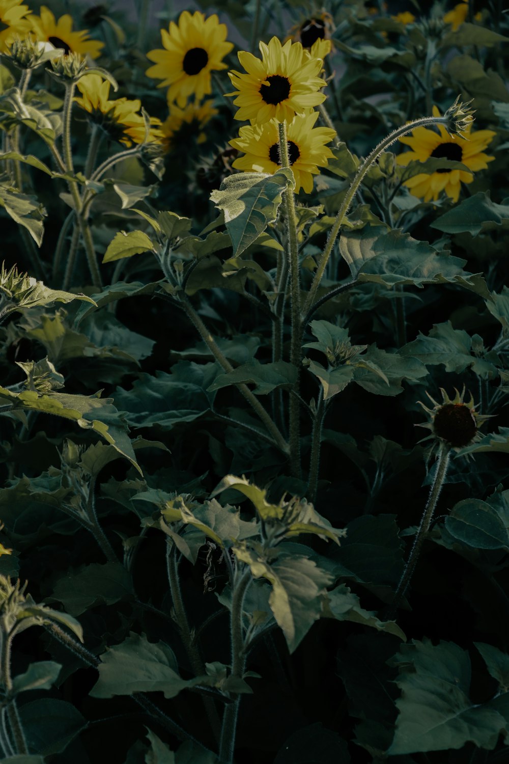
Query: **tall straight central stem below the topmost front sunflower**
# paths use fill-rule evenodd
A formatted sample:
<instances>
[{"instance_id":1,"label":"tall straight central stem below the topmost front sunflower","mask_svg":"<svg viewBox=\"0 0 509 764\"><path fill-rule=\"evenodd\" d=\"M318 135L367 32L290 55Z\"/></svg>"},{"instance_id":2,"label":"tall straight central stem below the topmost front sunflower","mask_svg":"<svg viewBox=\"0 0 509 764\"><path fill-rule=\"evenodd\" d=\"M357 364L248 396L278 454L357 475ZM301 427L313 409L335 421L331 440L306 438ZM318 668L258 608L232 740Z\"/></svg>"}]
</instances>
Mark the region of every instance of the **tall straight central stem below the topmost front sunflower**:
<instances>
[{"instance_id":1,"label":"tall straight central stem below the topmost front sunflower","mask_svg":"<svg viewBox=\"0 0 509 764\"><path fill-rule=\"evenodd\" d=\"M288 157L288 138L286 136L286 123L279 122L279 160L281 166L289 170L290 158ZM299 378L301 373L301 284L298 262L297 240L297 217L295 215L295 197L292 189L285 190L285 212L288 232L288 269L290 274L290 312L292 316L292 340L290 345L290 363L295 366L297 377L293 390L299 393ZM290 465L295 478L301 476L301 407L298 397L290 396L288 413L288 430L290 445Z\"/></svg>"}]
</instances>

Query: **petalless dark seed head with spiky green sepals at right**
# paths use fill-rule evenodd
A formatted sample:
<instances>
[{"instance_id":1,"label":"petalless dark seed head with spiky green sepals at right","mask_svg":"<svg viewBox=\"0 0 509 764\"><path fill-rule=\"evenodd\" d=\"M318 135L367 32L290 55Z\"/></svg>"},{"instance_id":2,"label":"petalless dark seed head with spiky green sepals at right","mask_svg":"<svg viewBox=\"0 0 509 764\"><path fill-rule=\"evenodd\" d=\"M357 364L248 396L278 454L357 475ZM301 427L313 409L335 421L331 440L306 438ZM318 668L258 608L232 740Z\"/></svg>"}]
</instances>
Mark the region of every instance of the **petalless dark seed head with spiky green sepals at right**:
<instances>
[{"instance_id":1,"label":"petalless dark seed head with spiky green sepals at right","mask_svg":"<svg viewBox=\"0 0 509 764\"><path fill-rule=\"evenodd\" d=\"M433 403L431 409L429 406L425 406L422 401L418 401L430 417L428 422L420 424L419 427L426 427L431 430L431 435L428 435L424 440L434 439L436 443L444 442L458 452L481 439L479 428L491 416L479 414L475 410L472 393L470 400L465 402L465 387L461 393L455 387L456 395L452 399L449 398L443 387L440 387L440 392L442 393L442 403L437 403L430 396L430 393L426 393Z\"/></svg>"}]
</instances>

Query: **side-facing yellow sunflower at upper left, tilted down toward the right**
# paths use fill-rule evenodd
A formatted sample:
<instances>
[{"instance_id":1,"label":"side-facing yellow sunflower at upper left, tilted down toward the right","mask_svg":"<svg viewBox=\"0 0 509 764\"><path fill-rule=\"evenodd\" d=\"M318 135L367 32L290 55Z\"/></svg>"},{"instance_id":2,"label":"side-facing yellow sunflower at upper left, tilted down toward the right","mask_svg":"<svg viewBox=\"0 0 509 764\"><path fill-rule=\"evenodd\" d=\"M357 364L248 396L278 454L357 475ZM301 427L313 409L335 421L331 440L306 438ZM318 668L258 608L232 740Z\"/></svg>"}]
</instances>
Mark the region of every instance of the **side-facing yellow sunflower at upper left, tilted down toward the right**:
<instances>
[{"instance_id":1,"label":"side-facing yellow sunflower at upper left, tilted down toward the right","mask_svg":"<svg viewBox=\"0 0 509 764\"><path fill-rule=\"evenodd\" d=\"M145 122L142 115L138 114L141 102L136 99L131 101L126 98L109 100L110 83L102 79L98 74L86 74L79 79L77 85L81 98L75 98L75 102L89 112L94 121L101 127L110 138L130 147L132 144L140 144L145 140ZM148 135L149 143L161 143L163 132L161 121L156 117L150 117Z\"/></svg>"}]
</instances>

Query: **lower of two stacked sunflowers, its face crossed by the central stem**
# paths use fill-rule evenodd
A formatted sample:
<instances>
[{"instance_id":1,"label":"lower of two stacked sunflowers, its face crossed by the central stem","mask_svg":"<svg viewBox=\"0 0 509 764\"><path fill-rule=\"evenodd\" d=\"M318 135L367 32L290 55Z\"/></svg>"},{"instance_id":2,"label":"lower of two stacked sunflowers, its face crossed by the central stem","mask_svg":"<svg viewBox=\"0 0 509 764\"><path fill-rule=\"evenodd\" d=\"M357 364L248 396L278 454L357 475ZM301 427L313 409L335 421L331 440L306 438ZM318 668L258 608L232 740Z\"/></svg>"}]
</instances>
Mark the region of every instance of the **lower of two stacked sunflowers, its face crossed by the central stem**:
<instances>
[{"instance_id":1,"label":"lower of two stacked sunflowers, its face crossed by the central stem","mask_svg":"<svg viewBox=\"0 0 509 764\"><path fill-rule=\"evenodd\" d=\"M313 190L313 176L318 167L327 167L327 159L333 157L325 144L332 141L336 131L330 128L314 128L318 112L296 115L288 123L288 158L295 176L295 191L303 188L305 193ZM246 125L240 128L239 138L230 145L243 151L246 156L233 163L237 170L256 173L275 173L281 167L279 159L278 122L271 119L263 125Z\"/></svg>"}]
</instances>

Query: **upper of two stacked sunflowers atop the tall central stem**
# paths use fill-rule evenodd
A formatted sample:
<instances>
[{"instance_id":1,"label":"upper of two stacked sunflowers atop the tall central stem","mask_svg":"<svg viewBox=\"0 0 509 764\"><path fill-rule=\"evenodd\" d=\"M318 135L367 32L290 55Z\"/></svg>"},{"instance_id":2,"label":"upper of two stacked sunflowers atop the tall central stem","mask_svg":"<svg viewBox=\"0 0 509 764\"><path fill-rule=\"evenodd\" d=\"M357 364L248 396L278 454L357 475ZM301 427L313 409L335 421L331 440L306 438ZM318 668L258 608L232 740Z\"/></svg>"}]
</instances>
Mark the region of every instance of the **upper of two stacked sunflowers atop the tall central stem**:
<instances>
[{"instance_id":1,"label":"upper of two stacked sunflowers atop the tall central stem","mask_svg":"<svg viewBox=\"0 0 509 764\"><path fill-rule=\"evenodd\" d=\"M270 119L291 121L295 114L307 114L314 106L324 102L319 92L325 85L320 73L323 61L312 58L301 43L291 40L282 44L272 37L269 44L259 44L262 60L252 53L240 50L239 61L247 74L229 72L237 95L234 104L239 107L235 119L250 119L262 124Z\"/></svg>"}]
</instances>

